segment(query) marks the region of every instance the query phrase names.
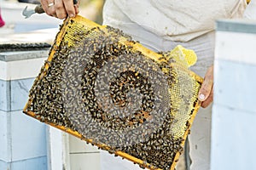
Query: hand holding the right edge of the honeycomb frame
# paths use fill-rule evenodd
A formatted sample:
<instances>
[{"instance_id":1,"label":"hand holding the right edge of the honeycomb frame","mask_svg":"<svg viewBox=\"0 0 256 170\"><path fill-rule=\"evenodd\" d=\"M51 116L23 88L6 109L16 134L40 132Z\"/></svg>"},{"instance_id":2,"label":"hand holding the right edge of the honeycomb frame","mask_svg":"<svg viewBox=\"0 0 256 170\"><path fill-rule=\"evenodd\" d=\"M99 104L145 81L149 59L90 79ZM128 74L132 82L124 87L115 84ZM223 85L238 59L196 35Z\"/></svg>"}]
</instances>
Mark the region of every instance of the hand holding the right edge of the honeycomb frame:
<instances>
[{"instance_id":1,"label":"hand holding the right edge of the honeycomb frame","mask_svg":"<svg viewBox=\"0 0 256 170\"><path fill-rule=\"evenodd\" d=\"M208 68L204 81L199 90L198 99L201 107L206 108L212 103L213 99L213 65Z\"/></svg>"}]
</instances>

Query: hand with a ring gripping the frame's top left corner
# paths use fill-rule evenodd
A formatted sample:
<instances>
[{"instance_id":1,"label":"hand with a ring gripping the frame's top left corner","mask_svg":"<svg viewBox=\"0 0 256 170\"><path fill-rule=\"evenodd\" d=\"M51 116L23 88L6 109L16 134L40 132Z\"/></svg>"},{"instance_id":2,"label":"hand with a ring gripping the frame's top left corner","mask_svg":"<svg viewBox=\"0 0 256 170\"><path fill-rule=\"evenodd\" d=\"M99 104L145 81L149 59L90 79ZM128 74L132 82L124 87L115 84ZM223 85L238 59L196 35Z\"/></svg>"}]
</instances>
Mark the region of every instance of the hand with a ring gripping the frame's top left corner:
<instances>
[{"instance_id":1,"label":"hand with a ring gripping the frame's top left corner","mask_svg":"<svg viewBox=\"0 0 256 170\"><path fill-rule=\"evenodd\" d=\"M41 0L44 12L58 19L65 19L67 16L74 17L79 14L79 2L73 4L73 0Z\"/></svg>"}]
</instances>

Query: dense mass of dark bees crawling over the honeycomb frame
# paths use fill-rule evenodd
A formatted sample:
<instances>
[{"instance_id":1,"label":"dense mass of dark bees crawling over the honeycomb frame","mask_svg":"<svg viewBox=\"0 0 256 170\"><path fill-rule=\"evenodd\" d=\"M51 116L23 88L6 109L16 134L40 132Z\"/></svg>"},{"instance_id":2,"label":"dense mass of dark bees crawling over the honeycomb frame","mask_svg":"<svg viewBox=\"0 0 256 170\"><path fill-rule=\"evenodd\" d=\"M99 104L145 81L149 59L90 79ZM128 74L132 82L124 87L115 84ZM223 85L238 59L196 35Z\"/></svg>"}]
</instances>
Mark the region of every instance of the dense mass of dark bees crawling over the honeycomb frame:
<instances>
[{"instance_id":1,"label":"dense mass of dark bees crawling over the honeycomb frame","mask_svg":"<svg viewBox=\"0 0 256 170\"><path fill-rule=\"evenodd\" d=\"M109 26L68 33L81 38L74 46L61 42L46 61L27 111L108 145L110 153L120 150L152 168L170 169L183 151L183 139L171 133L172 68L121 43L131 37Z\"/></svg>"}]
</instances>

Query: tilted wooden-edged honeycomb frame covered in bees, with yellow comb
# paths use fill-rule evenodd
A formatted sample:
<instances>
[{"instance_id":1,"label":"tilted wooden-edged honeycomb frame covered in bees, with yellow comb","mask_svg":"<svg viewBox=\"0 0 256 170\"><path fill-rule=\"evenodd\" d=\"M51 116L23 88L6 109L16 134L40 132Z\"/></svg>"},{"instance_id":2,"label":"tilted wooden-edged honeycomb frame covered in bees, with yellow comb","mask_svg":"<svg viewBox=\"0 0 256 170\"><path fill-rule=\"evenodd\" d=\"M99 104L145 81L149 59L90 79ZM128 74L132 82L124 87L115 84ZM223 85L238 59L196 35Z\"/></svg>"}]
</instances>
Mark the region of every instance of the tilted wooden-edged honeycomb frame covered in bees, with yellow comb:
<instances>
[{"instance_id":1,"label":"tilted wooden-edged honeycomb frame covered in bees, with yellow comb","mask_svg":"<svg viewBox=\"0 0 256 170\"><path fill-rule=\"evenodd\" d=\"M174 169L196 111L196 55L154 53L81 16L64 21L24 113L142 168Z\"/></svg>"}]
</instances>

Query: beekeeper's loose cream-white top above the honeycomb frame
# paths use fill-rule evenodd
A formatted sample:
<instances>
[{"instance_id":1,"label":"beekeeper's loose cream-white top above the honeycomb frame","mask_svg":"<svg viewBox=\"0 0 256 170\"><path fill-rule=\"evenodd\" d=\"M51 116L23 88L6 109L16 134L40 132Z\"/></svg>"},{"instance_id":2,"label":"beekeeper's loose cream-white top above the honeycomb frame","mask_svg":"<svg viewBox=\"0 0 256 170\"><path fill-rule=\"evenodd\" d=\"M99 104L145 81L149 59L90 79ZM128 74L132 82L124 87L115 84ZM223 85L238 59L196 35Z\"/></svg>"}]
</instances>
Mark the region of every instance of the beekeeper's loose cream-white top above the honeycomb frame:
<instances>
[{"instance_id":1,"label":"beekeeper's loose cream-white top above the honeycomb frame","mask_svg":"<svg viewBox=\"0 0 256 170\"><path fill-rule=\"evenodd\" d=\"M241 17L246 0L111 0L103 19L122 26L127 18L167 40L187 42L214 29L217 19Z\"/></svg>"}]
</instances>

